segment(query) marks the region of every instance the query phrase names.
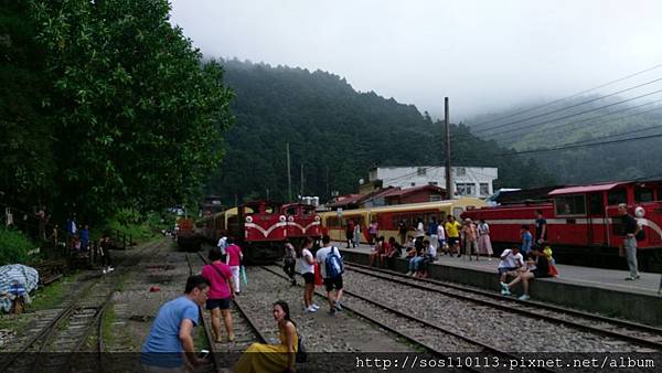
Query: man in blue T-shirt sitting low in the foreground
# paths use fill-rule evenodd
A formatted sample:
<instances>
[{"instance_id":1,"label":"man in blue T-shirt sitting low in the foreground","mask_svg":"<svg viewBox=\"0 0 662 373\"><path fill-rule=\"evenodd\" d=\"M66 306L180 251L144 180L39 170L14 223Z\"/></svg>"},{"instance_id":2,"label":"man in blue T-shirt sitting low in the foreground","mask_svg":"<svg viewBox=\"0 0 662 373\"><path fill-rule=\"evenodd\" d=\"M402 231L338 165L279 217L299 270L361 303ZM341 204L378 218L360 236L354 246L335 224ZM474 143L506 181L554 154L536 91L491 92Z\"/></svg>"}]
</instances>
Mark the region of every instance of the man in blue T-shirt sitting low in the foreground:
<instances>
[{"instance_id":1,"label":"man in blue T-shirt sitting low in the foreground","mask_svg":"<svg viewBox=\"0 0 662 373\"><path fill-rule=\"evenodd\" d=\"M204 277L191 276L184 295L161 306L142 344L140 360L146 372L188 372L189 365L206 362L195 356L192 331L209 289Z\"/></svg>"}]
</instances>

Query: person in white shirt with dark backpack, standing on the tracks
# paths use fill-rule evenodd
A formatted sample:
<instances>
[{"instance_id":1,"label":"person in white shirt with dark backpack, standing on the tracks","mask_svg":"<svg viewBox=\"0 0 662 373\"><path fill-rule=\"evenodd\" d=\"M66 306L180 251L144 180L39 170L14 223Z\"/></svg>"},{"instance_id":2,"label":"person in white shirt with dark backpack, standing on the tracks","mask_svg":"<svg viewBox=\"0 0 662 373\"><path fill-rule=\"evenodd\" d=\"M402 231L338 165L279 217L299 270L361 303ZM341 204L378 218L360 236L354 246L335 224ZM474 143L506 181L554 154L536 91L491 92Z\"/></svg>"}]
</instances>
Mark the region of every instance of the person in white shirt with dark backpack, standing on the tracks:
<instances>
[{"instance_id":1,"label":"person in white shirt with dark backpack, standing on the tracks","mask_svg":"<svg viewBox=\"0 0 662 373\"><path fill-rule=\"evenodd\" d=\"M329 299L329 315L335 316L337 310L342 310L342 273L344 265L340 251L335 246L331 246L331 238L328 235L322 237L322 247L317 252L316 258L320 264L327 297ZM333 295L335 289L335 295Z\"/></svg>"}]
</instances>

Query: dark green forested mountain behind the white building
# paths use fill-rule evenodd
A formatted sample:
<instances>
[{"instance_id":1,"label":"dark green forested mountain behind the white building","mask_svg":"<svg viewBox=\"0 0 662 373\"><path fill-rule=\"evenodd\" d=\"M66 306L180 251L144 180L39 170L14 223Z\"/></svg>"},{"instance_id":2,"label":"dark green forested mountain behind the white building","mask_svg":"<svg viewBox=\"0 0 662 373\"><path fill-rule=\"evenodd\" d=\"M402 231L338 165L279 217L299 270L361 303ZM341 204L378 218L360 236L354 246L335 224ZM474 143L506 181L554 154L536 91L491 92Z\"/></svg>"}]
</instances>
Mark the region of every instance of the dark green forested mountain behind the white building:
<instances>
[{"instance_id":1,"label":"dark green forested mountain behind the white building","mask_svg":"<svg viewBox=\"0 0 662 373\"><path fill-rule=\"evenodd\" d=\"M414 105L359 93L342 77L287 66L222 62L234 89L234 126L225 134L222 168L207 184L227 204L256 198L287 200L286 142L290 143L292 194L355 192L373 166L442 166L444 124ZM453 166L498 167L498 185L553 183L532 161L506 156L452 126ZM499 157L494 157L494 156ZM301 169L303 186L301 186Z\"/></svg>"}]
</instances>

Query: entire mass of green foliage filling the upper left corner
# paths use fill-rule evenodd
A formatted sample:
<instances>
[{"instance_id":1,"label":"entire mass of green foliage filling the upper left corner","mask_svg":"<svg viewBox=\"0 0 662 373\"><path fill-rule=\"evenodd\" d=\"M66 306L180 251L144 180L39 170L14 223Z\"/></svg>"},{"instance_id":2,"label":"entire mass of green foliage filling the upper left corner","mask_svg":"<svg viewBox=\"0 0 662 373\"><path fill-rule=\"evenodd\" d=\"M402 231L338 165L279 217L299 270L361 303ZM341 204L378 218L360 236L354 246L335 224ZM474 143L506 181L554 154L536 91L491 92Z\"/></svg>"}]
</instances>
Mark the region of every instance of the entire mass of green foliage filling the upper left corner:
<instances>
[{"instance_id":1,"label":"entire mass of green foliage filling the upper left corner","mask_svg":"<svg viewBox=\"0 0 662 373\"><path fill-rule=\"evenodd\" d=\"M167 0L2 6L0 190L12 203L99 221L200 195L232 93L169 23Z\"/></svg>"}]
</instances>

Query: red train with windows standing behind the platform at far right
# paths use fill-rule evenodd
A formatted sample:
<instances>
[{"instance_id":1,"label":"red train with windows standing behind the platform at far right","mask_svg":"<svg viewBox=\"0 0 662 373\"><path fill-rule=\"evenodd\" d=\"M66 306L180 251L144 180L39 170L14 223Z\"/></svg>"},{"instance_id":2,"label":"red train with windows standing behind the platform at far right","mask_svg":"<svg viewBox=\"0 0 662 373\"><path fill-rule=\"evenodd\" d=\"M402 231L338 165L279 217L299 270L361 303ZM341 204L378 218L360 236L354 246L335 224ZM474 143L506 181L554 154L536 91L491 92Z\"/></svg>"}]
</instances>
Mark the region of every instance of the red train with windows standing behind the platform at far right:
<instances>
[{"instance_id":1,"label":"red train with windows standing behind the platform at far right","mask_svg":"<svg viewBox=\"0 0 662 373\"><path fill-rule=\"evenodd\" d=\"M554 189L542 202L520 202L482 207L462 217L490 224L490 237L498 247L521 242L520 228L535 231L536 211L547 221L547 241L559 263L597 267L624 266L618 257L623 224L618 205L626 203L645 233L638 242L641 269L662 265L662 181L630 181Z\"/></svg>"}]
</instances>

